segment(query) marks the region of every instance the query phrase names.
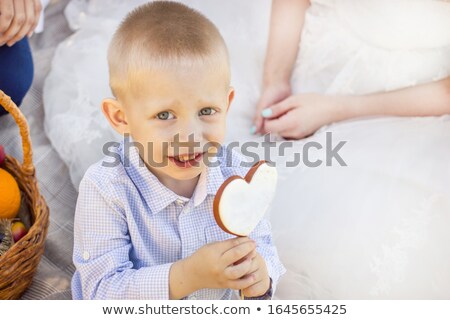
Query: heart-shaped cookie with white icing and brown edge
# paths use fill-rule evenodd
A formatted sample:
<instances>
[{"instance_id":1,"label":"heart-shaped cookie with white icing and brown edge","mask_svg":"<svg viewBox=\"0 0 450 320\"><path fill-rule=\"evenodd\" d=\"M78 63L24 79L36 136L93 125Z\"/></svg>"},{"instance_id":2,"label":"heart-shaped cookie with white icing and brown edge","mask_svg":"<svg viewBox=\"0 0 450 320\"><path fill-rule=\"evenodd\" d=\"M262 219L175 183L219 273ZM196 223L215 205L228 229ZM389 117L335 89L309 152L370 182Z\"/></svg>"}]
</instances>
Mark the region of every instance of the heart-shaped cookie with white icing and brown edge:
<instances>
[{"instance_id":1,"label":"heart-shaped cookie with white icing and brown edge","mask_svg":"<svg viewBox=\"0 0 450 320\"><path fill-rule=\"evenodd\" d=\"M214 198L214 218L228 233L248 236L266 214L275 195L277 170L264 160L245 175L229 177Z\"/></svg>"}]
</instances>

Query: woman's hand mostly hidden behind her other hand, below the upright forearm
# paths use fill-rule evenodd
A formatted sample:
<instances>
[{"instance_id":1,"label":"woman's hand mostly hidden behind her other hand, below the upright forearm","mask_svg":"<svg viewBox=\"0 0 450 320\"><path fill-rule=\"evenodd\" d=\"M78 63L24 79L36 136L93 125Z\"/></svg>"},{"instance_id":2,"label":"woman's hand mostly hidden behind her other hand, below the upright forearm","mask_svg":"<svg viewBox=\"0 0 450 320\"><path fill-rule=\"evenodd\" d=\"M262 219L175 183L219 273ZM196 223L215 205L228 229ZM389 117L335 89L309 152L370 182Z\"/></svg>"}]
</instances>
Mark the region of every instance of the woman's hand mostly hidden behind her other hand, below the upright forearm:
<instances>
[{"instance_id":1,"label":"woman's hand mostly hidden behind her other hand, below the upright forearm","mask_svg":"<svg viewBox=\"0 0 450 320\"><path fill-rule=\"evenodd\" d=\"M253 118L253 127L250 133L264 133L264 118L261 114L262 110L272 106L275 103L291 95L291 86L289 83L278 82L274 85L266 86L261 94L261 97L256 105L256 113Z\"/></svg>"}]
</instances>

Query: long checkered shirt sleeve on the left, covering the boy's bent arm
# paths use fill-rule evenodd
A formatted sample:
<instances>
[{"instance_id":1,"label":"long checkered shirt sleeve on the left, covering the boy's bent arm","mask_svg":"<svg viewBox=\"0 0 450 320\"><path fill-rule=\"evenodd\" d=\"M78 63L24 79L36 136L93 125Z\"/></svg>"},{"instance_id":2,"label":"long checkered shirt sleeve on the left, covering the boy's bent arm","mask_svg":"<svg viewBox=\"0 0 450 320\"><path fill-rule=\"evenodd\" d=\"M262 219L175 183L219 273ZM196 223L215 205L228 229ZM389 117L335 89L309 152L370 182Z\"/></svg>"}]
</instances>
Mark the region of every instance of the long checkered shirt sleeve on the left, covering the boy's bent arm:
<instances>
[{"instance_id":1,"label":"long checkered shirt sleeve on the left, covering the boy's bent arm","mask_svg":"<svg viewBox=\"0 0 450 320\"><path fill-rule=\"evenodd\" d=\"M171 263L133 268L123 209L86 177L75 211L74 297L81 299L169 299Z\"/></svg>"}]
</instances>

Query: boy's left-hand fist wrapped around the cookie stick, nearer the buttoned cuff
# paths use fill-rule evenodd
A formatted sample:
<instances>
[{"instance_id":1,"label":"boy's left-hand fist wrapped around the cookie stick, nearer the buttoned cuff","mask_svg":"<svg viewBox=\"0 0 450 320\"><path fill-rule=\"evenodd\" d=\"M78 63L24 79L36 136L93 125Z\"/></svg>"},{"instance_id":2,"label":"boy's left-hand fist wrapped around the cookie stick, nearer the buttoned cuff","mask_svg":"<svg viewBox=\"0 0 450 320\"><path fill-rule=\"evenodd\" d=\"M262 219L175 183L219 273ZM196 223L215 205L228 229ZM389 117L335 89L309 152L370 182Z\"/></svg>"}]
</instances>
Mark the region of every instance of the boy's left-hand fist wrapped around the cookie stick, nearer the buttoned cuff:
<instances>
[{"instance_id":1,"label":"boy's left-hand fist wrapped around the cookie stick, nearer the buttoned cuff","mask_svg":"<svg viewBox=\"0 0 450 320\"><path fill-rule=\"evenodd\" d=\"M187 260L196 290L240 290L251 287L255 283L252 271L256 271L256 266L259 266L253 261L257 255L255 248L255 241L238 237L210 243L198 249Z\"/></svg>"}]
</instances>

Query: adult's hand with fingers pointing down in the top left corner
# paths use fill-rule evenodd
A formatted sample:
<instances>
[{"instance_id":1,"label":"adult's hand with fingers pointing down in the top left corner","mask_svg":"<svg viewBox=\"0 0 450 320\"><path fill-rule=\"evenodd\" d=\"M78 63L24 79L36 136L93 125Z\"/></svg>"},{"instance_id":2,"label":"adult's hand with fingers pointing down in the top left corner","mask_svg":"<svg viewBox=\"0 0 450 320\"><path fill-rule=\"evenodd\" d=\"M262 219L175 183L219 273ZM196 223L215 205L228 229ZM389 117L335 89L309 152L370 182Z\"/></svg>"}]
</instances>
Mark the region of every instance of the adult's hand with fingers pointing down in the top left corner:
<instances>
[{"instance_id":1,"label":"adult's hand with fingers pointing down in the top left corner","mask_svg":"<svg viewBox=\"0 0 450 320\"><path fill-rule=\"evenodd\" d=\"M0 46L11 47L25 36L31 36L39 22L40 0L0 1Z\"/></svg>"}]
</instances>

